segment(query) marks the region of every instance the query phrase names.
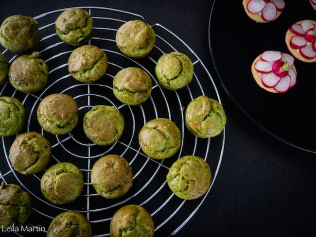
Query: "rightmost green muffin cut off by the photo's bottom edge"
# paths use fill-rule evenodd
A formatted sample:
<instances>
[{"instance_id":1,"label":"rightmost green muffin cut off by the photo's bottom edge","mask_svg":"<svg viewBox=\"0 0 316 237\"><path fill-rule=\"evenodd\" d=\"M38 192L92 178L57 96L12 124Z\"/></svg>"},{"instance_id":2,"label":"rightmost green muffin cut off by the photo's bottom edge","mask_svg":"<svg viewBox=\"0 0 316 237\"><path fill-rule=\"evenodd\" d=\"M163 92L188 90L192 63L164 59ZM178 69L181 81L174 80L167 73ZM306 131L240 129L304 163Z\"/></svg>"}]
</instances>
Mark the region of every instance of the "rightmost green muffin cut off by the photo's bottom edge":
<instances>
[{"instance_id":1,"label":"rightmost green muffin cut off by the photo's bottom edge","mask_svg":"<svg viewBox=\"0 0 316 237\"><path fill-rule=\"evenodd\" d=\"M121 207L110 222L110 237L153 237L154 231L150 213L136 204Z\"/></svg>"}]
</instances>

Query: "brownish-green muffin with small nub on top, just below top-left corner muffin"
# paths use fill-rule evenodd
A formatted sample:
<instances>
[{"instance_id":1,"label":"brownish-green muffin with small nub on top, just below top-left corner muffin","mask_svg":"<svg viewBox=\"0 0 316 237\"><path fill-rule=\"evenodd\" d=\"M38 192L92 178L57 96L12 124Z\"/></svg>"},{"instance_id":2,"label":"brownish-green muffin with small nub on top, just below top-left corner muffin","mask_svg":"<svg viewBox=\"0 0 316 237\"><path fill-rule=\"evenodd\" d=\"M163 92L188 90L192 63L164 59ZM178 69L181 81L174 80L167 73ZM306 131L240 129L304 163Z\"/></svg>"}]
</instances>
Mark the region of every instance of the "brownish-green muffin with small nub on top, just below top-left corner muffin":
<instances>
[{"instance_id":1,"label":"brownish-green muffin with small nub on top, just below top-left corner muffin","mask_svg":"<svg viewBox=\"0 0 316 237\"><path fill-rule=\"evenodd\" d=\"M33 93L45 87L48 67L39 52L17 57L9 68L9 81L18 91Z\"/></svg>"}]
</instances>

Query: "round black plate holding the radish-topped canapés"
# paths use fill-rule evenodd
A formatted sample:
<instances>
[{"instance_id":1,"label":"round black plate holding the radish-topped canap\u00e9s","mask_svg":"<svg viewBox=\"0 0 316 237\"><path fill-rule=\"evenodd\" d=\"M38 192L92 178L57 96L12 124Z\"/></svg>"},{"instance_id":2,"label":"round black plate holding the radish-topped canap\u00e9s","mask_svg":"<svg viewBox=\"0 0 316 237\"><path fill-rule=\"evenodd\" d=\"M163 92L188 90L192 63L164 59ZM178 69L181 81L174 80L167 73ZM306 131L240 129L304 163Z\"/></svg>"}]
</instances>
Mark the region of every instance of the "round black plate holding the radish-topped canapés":
<instances>
[{"instance_id":1,"label":"round black plate holding the radish-topped canap\u00e9s","mask_svg":"<svg viewBox=\"0 0 316 237\"><path fill-rule=\"evenodd\" d=\"M309 1L287 1L276 20L256 23L242 1L215 0L209 22L211 56L231 99L270 135L308 152L316 152L316 65L295 60L297 84L287 93L259 87L251 74L253 60L266 50L288 52L285 33L299 20L316 20Z\"/></svg>"}]
</instances>

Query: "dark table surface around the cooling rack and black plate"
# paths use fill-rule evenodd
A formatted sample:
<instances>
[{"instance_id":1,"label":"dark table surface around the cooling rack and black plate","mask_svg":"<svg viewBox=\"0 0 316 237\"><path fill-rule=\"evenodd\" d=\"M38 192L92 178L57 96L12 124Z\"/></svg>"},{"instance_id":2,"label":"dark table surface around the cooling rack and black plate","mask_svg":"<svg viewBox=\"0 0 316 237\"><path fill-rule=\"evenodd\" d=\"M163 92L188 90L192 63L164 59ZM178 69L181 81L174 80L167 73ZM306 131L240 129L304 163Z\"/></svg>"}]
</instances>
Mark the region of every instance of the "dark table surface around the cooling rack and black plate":
<instances>
[{"instance_id":1,"label":"dark table surface around the cooling rack and black plate","mask_svg":"<svg viewBox=\"0 0 316 237\"><path fill-rule=\"evenodd\" d=\"M219 89L228 117L221 168L208 198L176 236L315 236L315 154L268 135L230 99L211 61L208 24L212 1L2 0L0 20L13 14L37 16L88 5L131 11L151 24L166 26L196 52ZM228 31L238 26L238 21L229 18L221 23ZM295 107L299 113L300 108ZM315 140L313 136L310 139Z\"/></svg>"}]
</instances>

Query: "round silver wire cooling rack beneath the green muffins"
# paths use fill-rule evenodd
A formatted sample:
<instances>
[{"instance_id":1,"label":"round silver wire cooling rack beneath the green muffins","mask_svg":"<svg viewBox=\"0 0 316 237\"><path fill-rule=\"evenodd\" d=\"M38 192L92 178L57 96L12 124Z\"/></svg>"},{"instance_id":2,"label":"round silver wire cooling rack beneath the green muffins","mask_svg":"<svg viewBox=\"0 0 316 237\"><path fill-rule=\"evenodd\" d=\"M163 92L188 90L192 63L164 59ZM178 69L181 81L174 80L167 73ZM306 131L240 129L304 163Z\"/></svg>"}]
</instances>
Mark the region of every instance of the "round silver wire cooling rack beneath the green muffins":
<instances>
[{"instance_id":1,"label":"round silver wire cooling rack beneath the green muffins","mask_svg":"<svg viewBox=\"0 0 316 237\"><path fill-rule=\"evenodd\" d=\"M84 6L93 19L93 30L88 44L98 46L108 57L108 68L103 78L93 84L82 84L74 80L68 72L68 58L75 47L63 43L55 34L55 20L65 9L58 9L34 17L39 23L40 43L36 51L41 53L49 67L49 83L40 92L22 93L10 83L0 87L0 96L12 96L20 100L27 113L27 121L19 134L36 131L51 143L53 155L49 166L62 161L75 164L83 173L85 185L81 196L72 203L54 205L49 203L40 192L40 179L45 170L34 175L16 172L8 159L9 149L16 136L1 138L0 181L20 185L27 190L33 200L28 226L40 230L36 236L46 236L53 218L66 210L84 214L92 226L95 237L109 236L109 223L113 214L123 205L139 204L147 209L155 222L155 236L173 236L193 217L203 202L211 202L211 187L220 168L225 143L225 130L209 139L191 135L184 122L185 108L189 102L200 95L221 102L217 88L210 73L193 50L176 34L160 24L153 24L156 32L156 45L144 59L124 56L116 47L117 29L127 20L146 19L138 14L111 8ZM149 23L148 23L149 24ZM158 85L155 66L163 53L180 51L187 54L194 64L193 81L177 91L168 91ZM3 49L4 56L11 63L17 55ZM146 70L153 80L150 98L141 105L129 106L119 102L112 92L115 74L126 67L139 67ZM72 96L79 110L80 120L75 129L67 135L51 135L39 126L36 110L41 100L53 93ZM119 141L110 146L91 143L83 132L84 114L97 104L113 105L123 114L125 128ZM138 143L138 133L149 120L168 118L173 120L182 134L179 151L171 158L154 160L145 155ZM90 171L95 161L106 154L119 154L130 163L134 180L127 194L119 199L107 200L100 197L90 183ZM177 198L166 184L165 177L169 167L179 157L197 155L210 165L212 183L208 192L199 199L184 201ZM37 229L36 229L37 228ZM18 236L35 236L26 231L16 232Z\"/></svg>"}]
</instances>

